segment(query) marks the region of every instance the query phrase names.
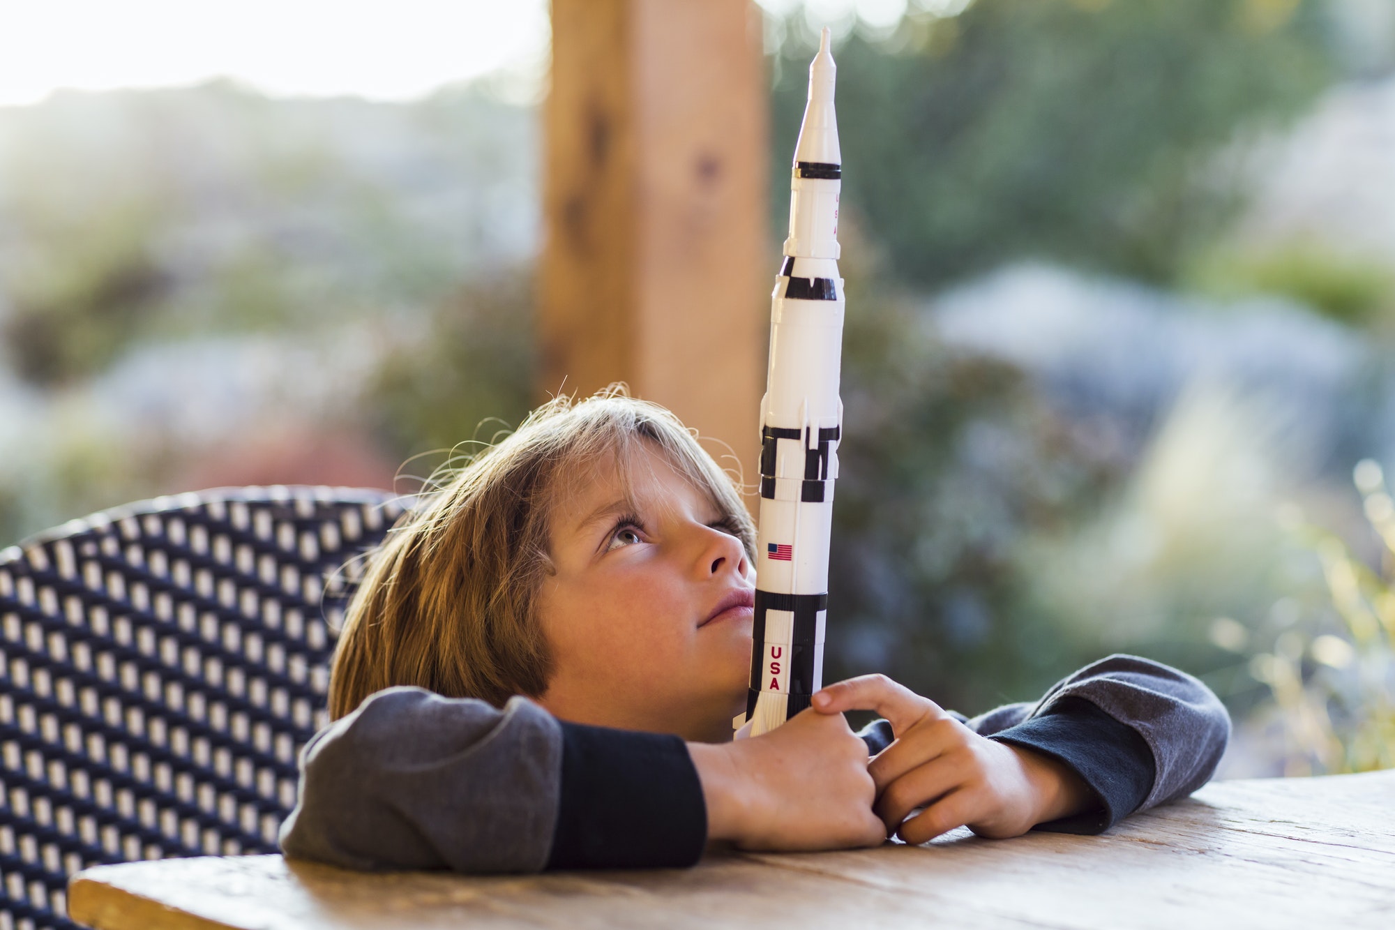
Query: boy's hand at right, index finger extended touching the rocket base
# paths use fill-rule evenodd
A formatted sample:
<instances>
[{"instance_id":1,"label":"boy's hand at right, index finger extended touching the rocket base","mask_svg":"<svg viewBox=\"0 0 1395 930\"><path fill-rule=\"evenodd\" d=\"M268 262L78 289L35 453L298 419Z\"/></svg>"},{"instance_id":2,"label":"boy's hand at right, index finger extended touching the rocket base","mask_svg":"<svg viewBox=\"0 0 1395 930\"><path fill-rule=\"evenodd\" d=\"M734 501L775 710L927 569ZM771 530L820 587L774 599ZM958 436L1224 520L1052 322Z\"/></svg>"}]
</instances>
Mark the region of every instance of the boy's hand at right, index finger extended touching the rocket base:
<instances>
[{"instance_id":1,"label":"boy's hand at right, index finger extended touching the rocket base","mask_svg":"<svg viewBox=\"0 0 1395 930\"><path fill-rule=\"evenodd\" d=\"M891 723L896 741L869 771L877 814L887 832L908 843L963 825L981 836L1017 836L1089 803L1089 789L1066 765L979 736L883 674L830 684L813 695L813 707L840 718L843 711L876 711ZM923 810L907 820L917 807Z\"/></svg>"}]
</instances>

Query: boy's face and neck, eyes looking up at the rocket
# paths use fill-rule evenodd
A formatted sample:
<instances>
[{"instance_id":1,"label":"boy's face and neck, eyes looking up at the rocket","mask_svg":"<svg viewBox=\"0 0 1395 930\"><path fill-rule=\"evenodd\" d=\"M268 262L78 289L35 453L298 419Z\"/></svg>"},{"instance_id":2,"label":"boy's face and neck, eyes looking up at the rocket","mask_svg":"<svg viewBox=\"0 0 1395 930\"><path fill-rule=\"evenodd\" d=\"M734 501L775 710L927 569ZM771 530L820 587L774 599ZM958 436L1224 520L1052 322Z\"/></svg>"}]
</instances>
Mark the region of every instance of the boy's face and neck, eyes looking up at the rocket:
<instances>
[{"instance_id":1,"label":"boy's face and neck, eyes looking up at the rocket","mask_svg":"<svg viewBox=\"0 0 1395 930\"><path fill-rule=\"evenodd\" d=\"M730 739L756 573L716 504L640 445L628 466L597 462L552 518L538 617L554 670L540 702L578 723Z\"/></svg>"}]
</instances>

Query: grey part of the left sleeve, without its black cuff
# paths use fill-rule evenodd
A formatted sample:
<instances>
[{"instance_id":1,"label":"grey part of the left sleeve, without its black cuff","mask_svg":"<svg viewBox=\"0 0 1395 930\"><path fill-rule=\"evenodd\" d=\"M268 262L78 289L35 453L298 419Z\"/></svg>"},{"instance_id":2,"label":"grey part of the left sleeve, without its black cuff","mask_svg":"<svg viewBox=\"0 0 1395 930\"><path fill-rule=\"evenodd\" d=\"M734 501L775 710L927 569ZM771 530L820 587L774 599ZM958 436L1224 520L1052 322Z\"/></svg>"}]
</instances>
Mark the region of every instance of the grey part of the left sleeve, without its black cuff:
<instances>
[{"instance_id":1,"label":"grey part of the left sleeve, without its black cuff","mask_svg":"<svg viewBox=\"0 0 1395 930\"><path fill-rule=\"evenodd\" d=\"M280 846L347 869L538 871L561 769L561 725L526 698L388 688L306 746Z\"/></svg>"}]
</instances>

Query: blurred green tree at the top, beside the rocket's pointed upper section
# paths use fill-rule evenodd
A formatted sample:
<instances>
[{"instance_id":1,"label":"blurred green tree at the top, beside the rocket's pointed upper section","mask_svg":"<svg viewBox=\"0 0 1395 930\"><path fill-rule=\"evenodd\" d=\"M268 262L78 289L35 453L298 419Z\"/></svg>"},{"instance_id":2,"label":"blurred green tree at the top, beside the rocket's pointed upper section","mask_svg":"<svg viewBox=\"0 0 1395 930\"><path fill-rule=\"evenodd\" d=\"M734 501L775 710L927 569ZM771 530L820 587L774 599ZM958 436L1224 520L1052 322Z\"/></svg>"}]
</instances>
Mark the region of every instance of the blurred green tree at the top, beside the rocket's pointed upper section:
<instances>
[{"instance_id":1,"label":"blurred green tree at the top, beside the rocket's pointed upper section","mask_svg":"<svg viewBox=\"0 0 1395 930\"><path fill-rule=\"evenodd\" d=\"M816 47L777 27L773 215ZM1035 256L1172 282L1230 218L1218 154L1332 71L1318 4L976 0L840 42L843 204L897 276L942 285ZM894 105L890 105L894 102Z\"/></svg>"}]
</instances>

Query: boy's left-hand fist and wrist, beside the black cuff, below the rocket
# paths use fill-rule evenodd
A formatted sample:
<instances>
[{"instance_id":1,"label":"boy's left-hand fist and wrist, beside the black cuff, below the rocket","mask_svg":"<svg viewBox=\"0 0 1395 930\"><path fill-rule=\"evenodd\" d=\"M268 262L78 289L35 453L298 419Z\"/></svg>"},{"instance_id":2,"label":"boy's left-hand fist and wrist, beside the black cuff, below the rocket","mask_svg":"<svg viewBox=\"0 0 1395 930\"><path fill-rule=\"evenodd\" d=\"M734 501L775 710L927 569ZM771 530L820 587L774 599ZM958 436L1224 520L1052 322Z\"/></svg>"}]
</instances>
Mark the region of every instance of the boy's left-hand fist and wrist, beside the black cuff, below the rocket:
<instances>
[{"instance_id":1,"label":"boy's left-hand fist and wrist, beside the black cuff, below the rocket","mask_svg":"<svg viewBox=\"0 0 1395 930\"><path fill-rule=\"evenodd\" d=\"M841 714L805 711L735 743L689 743L707 802L707 838L742 849L876 846L868 747Z\"/></svg>"}]
</instances>

